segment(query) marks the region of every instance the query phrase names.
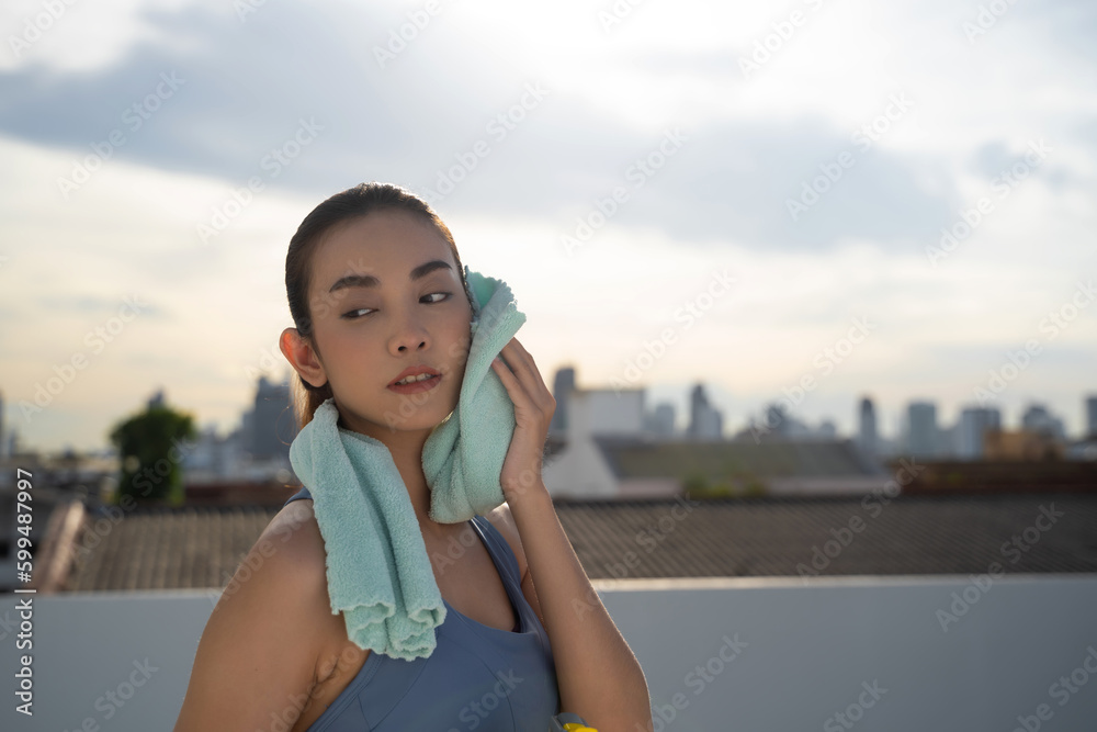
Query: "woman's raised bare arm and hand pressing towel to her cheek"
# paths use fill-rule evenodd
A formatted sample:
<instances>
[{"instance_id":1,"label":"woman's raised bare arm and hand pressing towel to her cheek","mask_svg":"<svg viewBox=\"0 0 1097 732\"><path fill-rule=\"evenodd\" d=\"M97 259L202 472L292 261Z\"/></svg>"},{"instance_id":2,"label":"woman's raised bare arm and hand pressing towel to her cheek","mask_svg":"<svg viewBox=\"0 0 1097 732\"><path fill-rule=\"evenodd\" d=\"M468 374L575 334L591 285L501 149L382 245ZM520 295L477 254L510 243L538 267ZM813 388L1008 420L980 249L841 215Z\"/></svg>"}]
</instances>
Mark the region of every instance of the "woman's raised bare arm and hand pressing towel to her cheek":
<instances>
[{"instance_id":1,"label":"woman's raised bare arm and hand pressing towel to her cheek","mask_svg":"<svg viewBox=\"0 0 1097 732\"><path fill-rule=\"evenodd\" d=\"M493 368L514 403L514 436L500 473L556 662L561 709L599 732L652 730L647 680L587 578L544 482L542 455L556 402L529 352L511 339ZM508 368L509 367L509 368Z\"/></svg>"}]
</instances>

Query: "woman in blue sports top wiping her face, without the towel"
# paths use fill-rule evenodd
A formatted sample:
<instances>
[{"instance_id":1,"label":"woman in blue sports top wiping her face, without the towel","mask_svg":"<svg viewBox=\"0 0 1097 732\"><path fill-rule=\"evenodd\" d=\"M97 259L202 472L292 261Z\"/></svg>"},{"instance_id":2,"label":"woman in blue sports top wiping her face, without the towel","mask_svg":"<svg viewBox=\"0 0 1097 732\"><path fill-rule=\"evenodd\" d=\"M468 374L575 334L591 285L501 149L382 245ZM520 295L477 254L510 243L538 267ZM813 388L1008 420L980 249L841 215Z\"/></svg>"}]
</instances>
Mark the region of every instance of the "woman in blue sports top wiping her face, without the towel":
<instances>
[{"instance_id":1,"label":"woman in blue sports top wiping her face, without the towel","mask_svg":"<svg viewBox=\"0 0 1097 732\"><path fill-rule=\"evenodd\" d=\"M384 442L449 610L430 657L359 649L331 613L324 540L303 489L251 549L240 567L247 576L238 571L214 608L177 732L433 732L438 720L450 720L439 732L540 732L557 706L599 732L651 730L644 673L541 480L555 401L517 338L491 365L514 405L500 474L506 502L465 523L429 518L422 448L457 404L473 316L449 228L402 188L343 191L309 213L291 240L286 294L296 327L279 345L299 378L298 424L330 397L341 428ZM395 386L422 367L431 375L418 391ZM499 660L505 667L493 667ZM499 679L490 694L462 691L488 672Z\"/></svg>"}]
</instances>

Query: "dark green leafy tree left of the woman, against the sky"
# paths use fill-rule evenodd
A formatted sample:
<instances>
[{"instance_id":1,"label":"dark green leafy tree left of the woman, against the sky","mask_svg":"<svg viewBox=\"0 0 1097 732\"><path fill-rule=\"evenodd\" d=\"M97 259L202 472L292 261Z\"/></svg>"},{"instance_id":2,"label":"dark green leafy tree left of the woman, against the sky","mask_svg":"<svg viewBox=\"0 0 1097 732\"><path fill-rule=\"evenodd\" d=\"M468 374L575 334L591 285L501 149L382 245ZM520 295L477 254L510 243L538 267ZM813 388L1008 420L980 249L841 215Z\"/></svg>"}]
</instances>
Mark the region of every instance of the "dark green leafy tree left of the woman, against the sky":
<instances>
[{"instance_id":1,"label":"dark green leafy tree left of the woman, against the sky","mask_svg":"<svg viewBox=\"0 0 1097 732\"><path fill-rule=\"evenodd\" d=\"M111 442L122 460L114 503L131 496L140 504L183 503L182 460L185 440L196 430L191 415L162 404L125 419L111 431Z\"/></svg>"}]
</instances>

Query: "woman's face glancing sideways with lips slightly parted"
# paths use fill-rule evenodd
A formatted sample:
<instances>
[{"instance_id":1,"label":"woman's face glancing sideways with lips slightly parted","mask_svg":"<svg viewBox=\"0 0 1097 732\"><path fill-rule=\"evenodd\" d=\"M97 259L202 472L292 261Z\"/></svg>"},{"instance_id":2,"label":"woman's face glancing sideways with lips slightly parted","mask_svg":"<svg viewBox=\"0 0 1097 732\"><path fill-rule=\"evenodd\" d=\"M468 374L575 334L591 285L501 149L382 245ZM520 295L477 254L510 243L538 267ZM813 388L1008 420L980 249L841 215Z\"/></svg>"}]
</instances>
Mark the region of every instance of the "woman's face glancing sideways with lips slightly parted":
<instances>
[{"instance_id":1,"label":"woman's face glancing sideways with lips slightly parted","mask_svg":"<svg viewBox=\"0 0 1097 732\"><path fill-rule=\"evenodd\" d=\"M450 247L428 222L378 211L330 229L313 252L309 313L348 428L375 439L430 430L456 407L473 312ZM391 388L415 365L441 376L426 391Z\"/></svg>"}]
</instances>

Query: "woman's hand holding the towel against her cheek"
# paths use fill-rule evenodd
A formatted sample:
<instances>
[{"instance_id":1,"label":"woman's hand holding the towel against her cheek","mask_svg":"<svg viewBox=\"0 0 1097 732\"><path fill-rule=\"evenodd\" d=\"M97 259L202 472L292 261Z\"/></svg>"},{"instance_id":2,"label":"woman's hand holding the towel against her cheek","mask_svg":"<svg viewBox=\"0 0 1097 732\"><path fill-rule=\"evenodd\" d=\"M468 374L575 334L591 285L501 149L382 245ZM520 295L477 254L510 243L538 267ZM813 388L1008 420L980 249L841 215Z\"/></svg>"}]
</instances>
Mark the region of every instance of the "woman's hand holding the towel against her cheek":
<instances>
[{"instance_id":1,"label":"woman's hand holding the towel against her cheek","mask_svg":"<svg viewBox=\"0 0 1097 732\"><path fill-rule=\"evenodd\" d=\"M491 361L491 368L514 403L514 436L499 474L504 497L509 503L511 497L530 488L544 489L541 468L556 399L545 386L533 357L518 338L511 338L499 357L501 360Z\"/></svg>"}]
</instances>

